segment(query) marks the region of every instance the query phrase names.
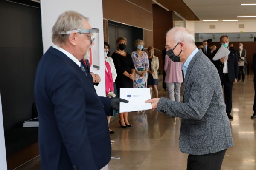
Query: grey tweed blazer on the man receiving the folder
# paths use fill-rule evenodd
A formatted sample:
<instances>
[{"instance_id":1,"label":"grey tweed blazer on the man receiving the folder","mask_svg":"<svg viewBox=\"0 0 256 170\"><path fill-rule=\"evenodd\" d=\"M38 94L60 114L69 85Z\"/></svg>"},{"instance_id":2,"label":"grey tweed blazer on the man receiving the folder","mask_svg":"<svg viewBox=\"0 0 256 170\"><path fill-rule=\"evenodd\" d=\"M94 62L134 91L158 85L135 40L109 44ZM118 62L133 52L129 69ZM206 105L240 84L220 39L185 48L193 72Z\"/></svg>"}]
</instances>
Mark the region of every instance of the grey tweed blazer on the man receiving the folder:
<instances>
[{"instance_id":1,"label":"grey tweed blazer on the man receiving the folder","mask_svg":"<svg viewBox=\"0 0 256 170\"><path fill-rule=\"evenodd\" d=\"M190 61L183 86L183 103L161 97L156 109L182 118L181 152L203 155L232 147L220 77L201 50Z\"/></svg>"}]
</instances>

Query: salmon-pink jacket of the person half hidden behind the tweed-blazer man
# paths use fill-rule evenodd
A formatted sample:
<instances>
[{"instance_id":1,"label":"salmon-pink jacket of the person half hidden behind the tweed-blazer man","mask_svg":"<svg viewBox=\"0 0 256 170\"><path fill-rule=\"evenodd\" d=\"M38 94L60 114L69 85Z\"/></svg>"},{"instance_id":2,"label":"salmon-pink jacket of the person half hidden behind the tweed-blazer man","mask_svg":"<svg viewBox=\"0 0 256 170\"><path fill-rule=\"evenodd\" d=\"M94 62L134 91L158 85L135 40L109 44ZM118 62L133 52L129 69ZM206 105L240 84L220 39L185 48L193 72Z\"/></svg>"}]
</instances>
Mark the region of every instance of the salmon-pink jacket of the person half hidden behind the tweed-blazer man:
<instances>
[{"instance_id":1,"label":"salmon-pink jacket of the person half hidden behind the tweed-blazer man","mask_svg":"<svg viewBox=\"0 0 256 170\"><path fill-rule=\"evenodd\" d=\"M181 62L173 62L166 54L163 69L166 72L165 83L183 82Z\"/></svg>"}]
</instances>

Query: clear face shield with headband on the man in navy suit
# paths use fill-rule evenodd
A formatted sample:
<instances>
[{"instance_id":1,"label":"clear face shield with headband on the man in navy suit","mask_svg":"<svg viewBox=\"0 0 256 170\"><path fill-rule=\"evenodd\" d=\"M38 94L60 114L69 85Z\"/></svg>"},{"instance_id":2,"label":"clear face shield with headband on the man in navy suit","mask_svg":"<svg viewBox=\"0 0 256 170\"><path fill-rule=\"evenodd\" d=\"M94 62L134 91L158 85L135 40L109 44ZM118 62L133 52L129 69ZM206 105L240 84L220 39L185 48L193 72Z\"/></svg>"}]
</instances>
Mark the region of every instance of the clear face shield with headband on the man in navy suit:
<instances>
[{"instance_id":1,"label":"clear face shield with headband on the man in navy suit","mask_svg":"<svg viewBox=\"0 0 256 170\"><path fill-rule=\"evenodd\" d=\"M90 62L90 67L92 66L94 70L99 70L99 29L76 29L72 31L61 31L59 34L71 34L72 32L77 33L90 33L87 37L90 38L91 45L84 55L84 59L88 59Z\"/></svg>"}]
</instances>

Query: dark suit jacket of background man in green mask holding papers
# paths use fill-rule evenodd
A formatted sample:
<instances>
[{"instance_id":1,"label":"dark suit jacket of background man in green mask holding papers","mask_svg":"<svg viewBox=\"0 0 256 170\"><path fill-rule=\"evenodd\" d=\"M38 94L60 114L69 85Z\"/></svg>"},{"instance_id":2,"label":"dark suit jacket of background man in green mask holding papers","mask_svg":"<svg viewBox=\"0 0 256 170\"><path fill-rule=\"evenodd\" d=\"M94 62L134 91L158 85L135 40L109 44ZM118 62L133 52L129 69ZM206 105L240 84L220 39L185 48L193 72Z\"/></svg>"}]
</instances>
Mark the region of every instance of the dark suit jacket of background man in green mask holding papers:
<instances>
[{"instance_id":1,"label":"dark suit jacket of background man in green mask holding papers","mask_svg":"<svg viewBox=\"0 0 256 170\"><path fill-rule=\"evenodd\" d=\"M212 52L212 56L214 57L215 54L217 53L218 49ZM235 78L237 79L238 77L238 57L236 50L229 48L230 54L228 54L228 59L227 59L227 72L228 72L228 79L230 82L234 82ZM223 76L223 63L221 63L220 60L214 61L213 62L215 67L218 70L218 73L220 75L221 82L224 81L224 76Z\"/></svg>"}]
</instances>

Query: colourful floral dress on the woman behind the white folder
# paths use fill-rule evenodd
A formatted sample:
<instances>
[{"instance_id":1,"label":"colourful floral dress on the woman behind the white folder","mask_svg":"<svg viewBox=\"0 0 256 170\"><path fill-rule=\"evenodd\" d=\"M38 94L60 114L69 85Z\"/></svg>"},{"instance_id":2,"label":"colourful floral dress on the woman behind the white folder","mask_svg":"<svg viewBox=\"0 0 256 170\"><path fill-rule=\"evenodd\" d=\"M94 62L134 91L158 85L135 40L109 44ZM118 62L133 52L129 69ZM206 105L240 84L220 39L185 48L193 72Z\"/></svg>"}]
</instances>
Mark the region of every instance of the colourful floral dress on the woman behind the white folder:
<instances>
[{"instance_id":1,"label":"colourful floral dress on the woman behind the white folder","mask_svg":"<svg viewBox=\"0 0 256 170\"><path fill-rule=\"evenodd\" d=\"M143 51L142 56L136 53L136 51L131 53L131 58L134 62L135 70L145 71L149 68L148 54ZM144 76L140 76L135 72L134 74L134 88L147 88L148 73Z\"/></svg>"}]
</instances>

